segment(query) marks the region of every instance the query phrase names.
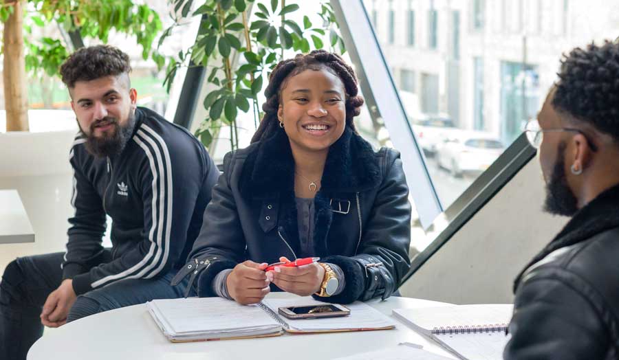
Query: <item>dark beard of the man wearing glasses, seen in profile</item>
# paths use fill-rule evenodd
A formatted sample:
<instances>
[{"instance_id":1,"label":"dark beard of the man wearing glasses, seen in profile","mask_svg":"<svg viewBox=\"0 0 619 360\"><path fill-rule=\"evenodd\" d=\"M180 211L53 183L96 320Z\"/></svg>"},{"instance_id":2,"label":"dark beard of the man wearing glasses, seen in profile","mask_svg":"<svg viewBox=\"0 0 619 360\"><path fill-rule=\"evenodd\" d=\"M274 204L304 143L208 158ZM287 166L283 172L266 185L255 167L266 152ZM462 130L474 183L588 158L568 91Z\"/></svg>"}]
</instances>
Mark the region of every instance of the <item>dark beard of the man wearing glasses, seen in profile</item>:
<instances>
[{"instance_id":1,"label":"dark beard of the man wearing glasses, seen in profile","mask_svg":"<svg viewBox=\"0 0 619 360\"><path fill-rule=\"evenodd\" d=\"M567 145L562 142L558 146L557 160L554 163L550 181L546 183L546 200L544 210L550 214L573 216L578 211L578 201L574 192L567 185L565 176L565 149Z\"/></svg>"}]
</instances>

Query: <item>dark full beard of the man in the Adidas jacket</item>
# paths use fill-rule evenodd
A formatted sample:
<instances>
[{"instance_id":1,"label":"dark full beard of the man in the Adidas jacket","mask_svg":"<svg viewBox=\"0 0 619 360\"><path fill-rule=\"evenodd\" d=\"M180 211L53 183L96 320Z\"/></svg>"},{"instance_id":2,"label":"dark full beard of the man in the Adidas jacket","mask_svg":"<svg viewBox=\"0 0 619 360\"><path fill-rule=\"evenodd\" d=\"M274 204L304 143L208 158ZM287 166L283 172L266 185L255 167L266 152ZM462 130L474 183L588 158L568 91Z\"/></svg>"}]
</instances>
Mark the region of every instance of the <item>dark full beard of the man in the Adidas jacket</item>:
<instances>
[{"instance_id":1,"label":"dark full beard of the man in the Adidas jacket","mask_svg":"<svg viewBox=\"0 0 619 360\"><path fill-rule=\"evenodd\" d=\"M98 124L109 122L113 126L111 136L102 135L95 137L95 129ZM86 135L86 150L96 157L113 157L122 153L135 128L135 114L129 112L129 118L125 126L120 126L118 120L113 117L104 117L90 124L90 134Z\"/></svg>"}]
</instances>

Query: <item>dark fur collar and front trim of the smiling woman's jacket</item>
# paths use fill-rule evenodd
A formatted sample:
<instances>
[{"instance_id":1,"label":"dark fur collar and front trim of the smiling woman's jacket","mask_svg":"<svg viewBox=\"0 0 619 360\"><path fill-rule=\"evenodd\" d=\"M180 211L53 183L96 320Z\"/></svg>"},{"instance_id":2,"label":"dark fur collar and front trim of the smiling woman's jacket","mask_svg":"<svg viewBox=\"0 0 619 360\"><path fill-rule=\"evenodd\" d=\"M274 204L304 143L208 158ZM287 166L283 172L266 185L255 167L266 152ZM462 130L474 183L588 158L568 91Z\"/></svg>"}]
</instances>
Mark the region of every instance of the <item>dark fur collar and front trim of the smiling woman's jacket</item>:
<instances>
[{"instance_id":1,"label":"dark fur collar and front trim of the smiling woman's jacket","mask_svg":"<svg viewBox=\"0 0 619 360\"><path fill-rule=\"evenodd\" d=\"M243 164L239 188L246 199L279 198L281 232L293 248L299 249L296 203L294 200L294 159L284 131L256 143ZM370 144L348 126L330 148L321 179L321 190L314 197L314 256L334 255L329 249L329 229L333 221L331 199L354 201L354 193L378 188L381 181L378 158ZM350 234L342 241L357 241Z\"/></svg>"}]
</instances>

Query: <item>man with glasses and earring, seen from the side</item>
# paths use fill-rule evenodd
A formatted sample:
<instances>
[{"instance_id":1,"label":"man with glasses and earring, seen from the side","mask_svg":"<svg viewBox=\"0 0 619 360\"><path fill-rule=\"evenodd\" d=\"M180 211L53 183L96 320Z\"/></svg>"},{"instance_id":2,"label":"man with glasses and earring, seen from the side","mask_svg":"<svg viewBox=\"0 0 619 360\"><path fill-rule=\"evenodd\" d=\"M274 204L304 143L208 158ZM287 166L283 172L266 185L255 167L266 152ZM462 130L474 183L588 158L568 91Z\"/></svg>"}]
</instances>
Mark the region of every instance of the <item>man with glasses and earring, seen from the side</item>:
<instances>
[{"instance_id":1,"label":"man with glasses and earring, seen from the side","mask_svg":"<svg viewBox=\"0 0 619 360\"><path fill-rule=\"evenodd\" d=\"M570 216L519 274L505 359L619 357L619 43L572 50L526 133L545 210Z\"/></svg>"}]
</instances>

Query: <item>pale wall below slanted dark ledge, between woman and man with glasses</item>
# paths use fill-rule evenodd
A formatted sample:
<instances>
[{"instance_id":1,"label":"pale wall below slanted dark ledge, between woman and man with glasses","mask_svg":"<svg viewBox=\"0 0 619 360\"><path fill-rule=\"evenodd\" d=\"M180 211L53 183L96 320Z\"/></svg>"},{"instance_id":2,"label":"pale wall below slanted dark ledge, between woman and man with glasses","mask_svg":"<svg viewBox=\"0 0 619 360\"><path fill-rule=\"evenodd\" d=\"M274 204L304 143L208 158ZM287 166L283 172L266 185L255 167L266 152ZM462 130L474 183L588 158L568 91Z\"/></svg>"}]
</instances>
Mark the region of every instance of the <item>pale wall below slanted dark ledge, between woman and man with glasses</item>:
<instances>
[{"instance_id":1,"label":"pale wall below slanted dark ledge, between woman and man with glasses","mask_svg":"<svg viewBox=\"0 0 619 360\"><path fill-rule=\"evenodd\" d=\"M544 197L534 158L402 285L402 295L455 304L512 302L516 275L567 221L542 212Z\"/></svg>"}]
</instances>

